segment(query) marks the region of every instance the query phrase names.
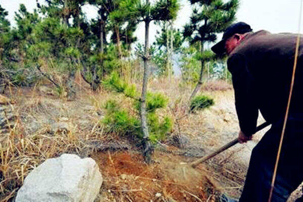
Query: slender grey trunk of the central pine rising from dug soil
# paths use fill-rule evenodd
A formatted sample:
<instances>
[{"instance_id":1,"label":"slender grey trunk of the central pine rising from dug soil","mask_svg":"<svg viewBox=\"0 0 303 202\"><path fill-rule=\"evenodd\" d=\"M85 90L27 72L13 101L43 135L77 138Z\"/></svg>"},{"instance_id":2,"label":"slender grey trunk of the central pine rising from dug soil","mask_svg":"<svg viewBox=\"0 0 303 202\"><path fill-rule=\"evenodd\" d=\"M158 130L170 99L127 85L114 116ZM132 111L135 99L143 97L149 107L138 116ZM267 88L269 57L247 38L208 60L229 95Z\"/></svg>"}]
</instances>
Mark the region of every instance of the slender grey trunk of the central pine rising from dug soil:
<instances>
[{"instance_id":1,"label":"slender grey trunk of the central pine rising from dug soil","mask_svg":"<svg viewBox=\"0 0 303 202\"><path fill-rule=\"evenodd\" d=\"M148 4L148 0L146 0ZM143 73L143 85L142 85L142 95L140 98L140 118L141 118L141 128L143 132L143 156L146 163L151 162L151 154L153 153L153 148L149 140L147 120L146 120L146 91L147 91L147 81L148 81L148 61L149 61L149 52L148 52L148 43L149 43L149 19L145 21L145 47L144 47L144 73Z\"/></svg>"}]
</instances>

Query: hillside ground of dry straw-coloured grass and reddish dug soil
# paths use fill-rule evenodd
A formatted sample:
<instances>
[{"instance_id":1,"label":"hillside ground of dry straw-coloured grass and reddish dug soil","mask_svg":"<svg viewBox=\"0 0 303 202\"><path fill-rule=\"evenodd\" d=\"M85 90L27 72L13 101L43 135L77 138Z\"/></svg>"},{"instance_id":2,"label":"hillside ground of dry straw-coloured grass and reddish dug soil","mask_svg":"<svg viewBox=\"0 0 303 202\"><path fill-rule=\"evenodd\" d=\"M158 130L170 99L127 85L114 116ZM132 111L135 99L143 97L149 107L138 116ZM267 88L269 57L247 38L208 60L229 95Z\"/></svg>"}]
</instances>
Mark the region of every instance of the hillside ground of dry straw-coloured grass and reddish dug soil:
<instances>
[{"instance_id":1,"label":"hillside ground of dry straw-coloured grass and reddish dug soil","mask_svg":"<svg viewBox=\"0 0 303 202\"><path fill-rule=\"evenodd\" d=\"M167 140L156 145L150 165L143 162L136 140L106 133L101 123L109 98L126 108L131 99L105 89L91 92L81 79L77 84L73 102L45 93L40 86L7 91L15 104L0 106L5 116L10 113L12 117L0 139L2 201L13 200L34 167L63 153L96 161L104 177L96 201L218 201L221 193L239 197L251 149L264 131L195 169L188 166L237 137L230 84L207 83L200 92L213 97L215 105L187 114L191 88L182 87L178 79L149 82L151 91L163 92L170 99L160 116L169 114L175 123ZM261 116L258 122L263 122Z\"/></svg>"}]
</instances>

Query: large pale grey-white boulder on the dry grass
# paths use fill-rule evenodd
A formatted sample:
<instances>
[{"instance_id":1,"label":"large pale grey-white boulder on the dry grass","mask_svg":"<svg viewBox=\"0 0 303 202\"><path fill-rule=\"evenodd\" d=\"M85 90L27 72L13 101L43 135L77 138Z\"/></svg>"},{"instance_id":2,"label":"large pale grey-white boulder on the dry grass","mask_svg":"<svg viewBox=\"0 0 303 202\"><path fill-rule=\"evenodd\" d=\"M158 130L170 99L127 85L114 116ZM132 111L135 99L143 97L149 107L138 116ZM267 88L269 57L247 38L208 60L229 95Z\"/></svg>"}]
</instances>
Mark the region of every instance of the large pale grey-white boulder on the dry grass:
<instances>
[{"instance_id":1,"label":"large pale grey-white boulder on the dry grass","mask_svg":"<svg viewBox=\"0 0 303 202\"><path fill-rule=\"evenodd\" d=\"M103 183L94 160L63 154L31 171L19 189L16 202L93 201Z\"/></svg>"}]
</instances>

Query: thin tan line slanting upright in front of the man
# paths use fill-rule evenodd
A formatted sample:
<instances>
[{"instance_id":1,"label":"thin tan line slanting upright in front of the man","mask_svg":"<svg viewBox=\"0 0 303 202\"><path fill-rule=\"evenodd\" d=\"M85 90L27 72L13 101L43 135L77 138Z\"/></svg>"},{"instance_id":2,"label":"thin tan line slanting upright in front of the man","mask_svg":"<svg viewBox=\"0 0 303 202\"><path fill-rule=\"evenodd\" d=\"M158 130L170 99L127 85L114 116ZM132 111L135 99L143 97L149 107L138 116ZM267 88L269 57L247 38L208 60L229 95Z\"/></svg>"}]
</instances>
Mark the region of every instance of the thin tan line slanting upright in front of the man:
<instances>
[{"instance_id":1,"label":"thin tan line slanting upright in front of the man","mask_svg":"<svg viewBox=\"0 0 303 202\"><path fill-rule=\"evenodd\" d=\"M284 138L284 133L285 133L285 128L286 128L286 122L287 122L287 117L288 117L288 112L289 112L290 99L291 99L292 89L293 89L293 84L294 84L294 76L295 76L295 70L296 70L296 66L297 66L297 58L298 58L299 42L300 42L302 4L303 4L303 0L301 0L301 5L300 5L299 28L298 28L298 36L297 36L297 40L296 40L294 64L293 64L293 71L292 71L292 77L291 77L290 91L289 91L289 96L288 96L288 103L287 103L286 113L285 113L285 117L284 117L283 129L282 129L282 134L281 134L281 139L280 139L280 144L279 144L279 149L278 149L275 170L274 170L273 179L272 179L272 183L271 183L271 189L270 189L270 193L269 193L268 202L271 202L272 194L273 194L273 190L274 190L274 184L275 184L275 180L276 180L277 169L278 169L278 164L279 164L279 159L280 159L280 154L281 154L281 148L282 148L282 143L283 143L283 138Z\"/></svg>"}]
</instances>

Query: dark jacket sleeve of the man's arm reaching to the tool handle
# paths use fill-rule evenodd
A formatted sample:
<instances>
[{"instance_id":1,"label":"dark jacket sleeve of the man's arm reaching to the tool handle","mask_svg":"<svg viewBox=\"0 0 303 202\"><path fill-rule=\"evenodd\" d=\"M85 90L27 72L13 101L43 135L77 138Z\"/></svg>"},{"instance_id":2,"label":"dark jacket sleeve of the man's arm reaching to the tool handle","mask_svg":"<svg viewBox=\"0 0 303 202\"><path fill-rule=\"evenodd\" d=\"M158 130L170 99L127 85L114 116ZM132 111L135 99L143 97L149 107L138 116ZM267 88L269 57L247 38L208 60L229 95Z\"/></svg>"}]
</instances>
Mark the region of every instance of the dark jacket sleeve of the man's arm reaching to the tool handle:
<instances>
[{"instance_id":1,"label":"dark jacket sleeve of the man's arm reaching to the tool handle","mask_svg":"<svg viewBox=\"0 0 303 202\"><path fill-rule=\"evenodd\" d=\"M227 67L232 74L240 129L246 136L251 136L256 133L259 115L256 81L247 69L245 56L239 54L231 56L227 61Z\"/></svg>"}]
</instances>

